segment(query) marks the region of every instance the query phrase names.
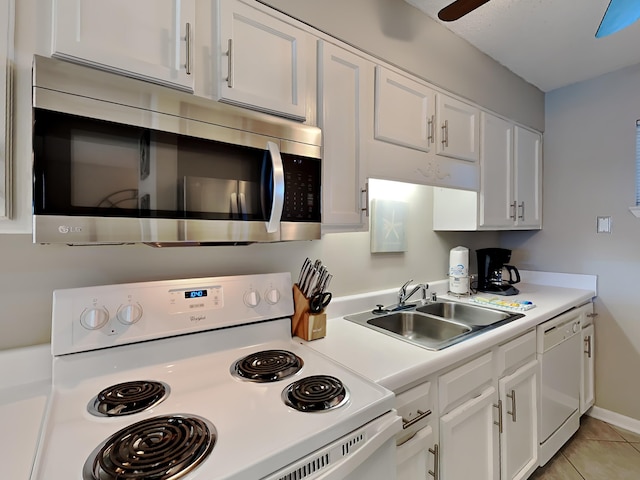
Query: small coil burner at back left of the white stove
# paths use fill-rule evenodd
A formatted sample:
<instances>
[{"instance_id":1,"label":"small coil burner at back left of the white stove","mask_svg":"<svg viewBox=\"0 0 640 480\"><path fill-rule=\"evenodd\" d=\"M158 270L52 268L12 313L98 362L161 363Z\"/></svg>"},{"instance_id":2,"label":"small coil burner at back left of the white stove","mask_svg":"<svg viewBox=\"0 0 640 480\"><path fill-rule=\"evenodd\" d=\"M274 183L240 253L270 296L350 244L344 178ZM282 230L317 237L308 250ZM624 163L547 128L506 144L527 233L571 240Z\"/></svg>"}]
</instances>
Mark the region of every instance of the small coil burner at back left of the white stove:
<instances>
[{"instance_id":1,"label":"small coil burner at back left of the white stove","mask_svg":"<svg viewBox=\"0 0 640 480\"><path fill-rule=\"evenodd\" d=\"M102 390L87 406L98 417L118 417L142 412L162 402L169 395L163 382L138 380L118 383Z\"/></svg>"}]
</instances>

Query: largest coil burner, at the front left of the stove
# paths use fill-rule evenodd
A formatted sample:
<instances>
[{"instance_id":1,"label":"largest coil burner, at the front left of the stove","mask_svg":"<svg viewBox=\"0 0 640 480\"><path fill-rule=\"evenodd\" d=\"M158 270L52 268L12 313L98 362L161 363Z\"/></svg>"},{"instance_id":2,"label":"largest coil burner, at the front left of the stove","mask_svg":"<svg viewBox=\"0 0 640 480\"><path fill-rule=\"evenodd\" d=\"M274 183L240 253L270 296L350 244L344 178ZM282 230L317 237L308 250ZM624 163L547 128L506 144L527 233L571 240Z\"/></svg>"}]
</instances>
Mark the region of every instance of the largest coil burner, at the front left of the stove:
<instances>
[{"instance_id":1,"label":"largest coil burner, at the front left of the stove","mask_svg":"<svg viewBox=\"0 0 640 480\"><path fill-rule=\"evenodd\" d=\"M119 430L84 464L84 480L175 480L213 450L216 429L195 415L148 418Z\"/></svg>"}]
</instances>

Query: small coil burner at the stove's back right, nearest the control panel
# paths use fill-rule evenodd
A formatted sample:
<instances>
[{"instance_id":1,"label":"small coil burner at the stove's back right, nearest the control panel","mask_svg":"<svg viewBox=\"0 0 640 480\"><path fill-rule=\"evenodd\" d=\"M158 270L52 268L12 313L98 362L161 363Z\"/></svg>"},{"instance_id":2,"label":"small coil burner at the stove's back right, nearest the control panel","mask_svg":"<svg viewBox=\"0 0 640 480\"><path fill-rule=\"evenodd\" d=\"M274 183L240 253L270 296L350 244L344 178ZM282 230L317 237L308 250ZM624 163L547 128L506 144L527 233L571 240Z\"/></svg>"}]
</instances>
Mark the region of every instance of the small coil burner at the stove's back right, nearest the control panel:
<instances>
[{"instance_id":1,"label":"small coil burner at the stove's back right, nearest the control panel","mask_svg":"<svg viewBox=\"0 0 640 480\"><path fill-rule=\"evenodd\" d=\"M295 375L302 365L302 359L287 350L263 350L235 362L231 373L252 382L277 382Z\"/></svg>"}]
</instances>

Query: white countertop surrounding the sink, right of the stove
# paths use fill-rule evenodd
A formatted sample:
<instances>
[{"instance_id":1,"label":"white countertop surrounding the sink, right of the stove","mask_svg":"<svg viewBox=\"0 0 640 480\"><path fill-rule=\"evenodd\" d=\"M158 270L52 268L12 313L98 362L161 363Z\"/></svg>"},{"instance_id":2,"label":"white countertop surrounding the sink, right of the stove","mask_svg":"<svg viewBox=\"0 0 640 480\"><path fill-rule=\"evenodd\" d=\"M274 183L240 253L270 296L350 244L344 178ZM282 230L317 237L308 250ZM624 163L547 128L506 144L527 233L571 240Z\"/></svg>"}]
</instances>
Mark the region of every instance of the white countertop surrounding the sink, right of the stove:
<instances>
[{"instance_id":1,"label":"white countertop surrounding the sink, right of the stove","mask_svg":"<svg viewBox=\"0 0 640 480\"><path fill-rule=\"evenodd\" d=\"M505 343L546 320L592 301L596 296L595 277L558 275L541 276L537 272L521 275L523 280L528 277L529 282L539 283L519 283L517 287L520 293L505 298L529 300L536 305L535 308L522 312L525 315L523 318L443 350L430 351L343 318L349 313L373 310L376 304L394 303L397 290L336 299L333 311L333 302L327 310L332 318L327 320L326 337L306 343L376 383L395 393L400 393L423 382L429 375ZM541 284L542 282L546 284ZM579 288L557 285L572 285ZM430 290L443 292L438 295L439 299L469 301L464 297L458 299L444 294L446 282L430 284ZM350 308L352 310L349 310Z\"/></svg>"}]
</instances>

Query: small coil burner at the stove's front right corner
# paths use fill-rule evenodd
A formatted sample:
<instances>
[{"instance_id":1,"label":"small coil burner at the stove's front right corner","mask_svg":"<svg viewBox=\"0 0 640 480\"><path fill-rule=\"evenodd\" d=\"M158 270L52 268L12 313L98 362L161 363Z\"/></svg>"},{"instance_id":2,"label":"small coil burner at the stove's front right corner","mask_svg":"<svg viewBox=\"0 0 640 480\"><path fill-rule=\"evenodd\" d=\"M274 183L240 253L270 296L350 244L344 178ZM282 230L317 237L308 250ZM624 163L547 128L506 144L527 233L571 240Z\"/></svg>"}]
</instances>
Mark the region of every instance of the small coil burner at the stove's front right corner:
<instances>
[{"instance_id":1,"label":"small coil burner at the stove's front right corner","mask_svg":"<svg viewBox=\"0 0 640 480\"><path fill-rule=\"evenodd\" d=\"M344 405L349 392L335 377L314 375L293 382L282 391L282 398L301 412L323 412Z\"/></svg>"}]
</instances>

